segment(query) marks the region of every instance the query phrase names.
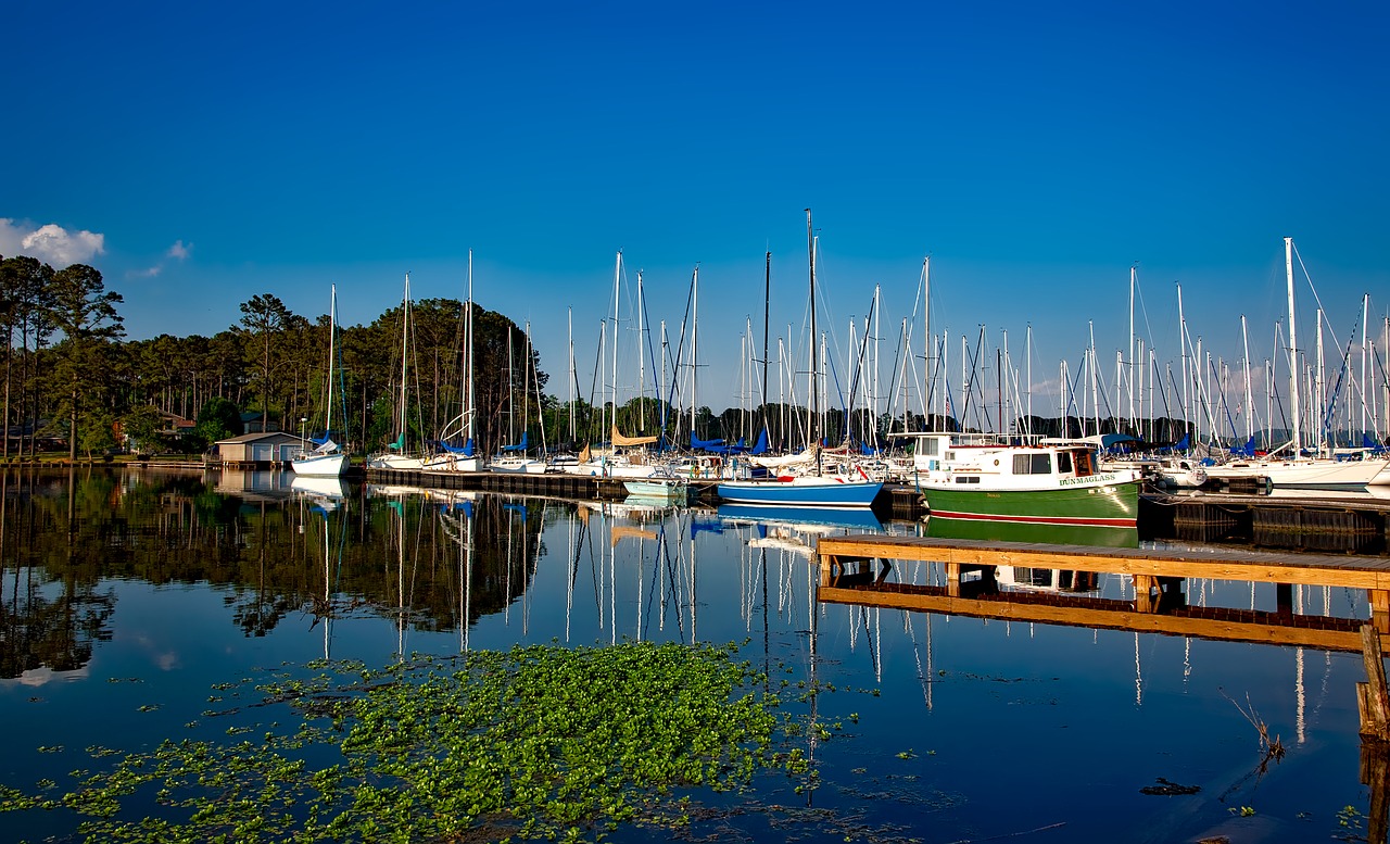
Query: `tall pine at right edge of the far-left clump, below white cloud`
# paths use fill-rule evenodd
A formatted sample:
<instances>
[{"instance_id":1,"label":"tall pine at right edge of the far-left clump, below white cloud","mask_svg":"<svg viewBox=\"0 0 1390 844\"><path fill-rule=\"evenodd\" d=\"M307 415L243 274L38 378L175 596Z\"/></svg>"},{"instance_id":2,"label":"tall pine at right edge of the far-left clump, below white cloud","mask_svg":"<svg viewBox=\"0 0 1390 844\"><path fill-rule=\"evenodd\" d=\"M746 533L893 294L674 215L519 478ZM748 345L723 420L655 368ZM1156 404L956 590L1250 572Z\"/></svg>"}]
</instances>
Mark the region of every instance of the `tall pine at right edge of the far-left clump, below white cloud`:
<instances>
[{"instance_id":1,"label":"tall pine at right edge of the far-left clump, below white cloud","mask_svg":"<svg viewBox=\"0 0 1390 844\"><path fill-rule=\"evenodd\" d=\"M115 291L107 291L101 273L86 264L72 264L53 274L51 299L47 314L63 332L57 352L56 377L67 385L64 403L68 417L68 459L76 459L78 419L83 402L92 393L108 387L110 375L103 366L103 346L124 334L121 314L115 306L122 302ZM110 425L107 425L110 435Z\"/></svg>"}]
</instances>

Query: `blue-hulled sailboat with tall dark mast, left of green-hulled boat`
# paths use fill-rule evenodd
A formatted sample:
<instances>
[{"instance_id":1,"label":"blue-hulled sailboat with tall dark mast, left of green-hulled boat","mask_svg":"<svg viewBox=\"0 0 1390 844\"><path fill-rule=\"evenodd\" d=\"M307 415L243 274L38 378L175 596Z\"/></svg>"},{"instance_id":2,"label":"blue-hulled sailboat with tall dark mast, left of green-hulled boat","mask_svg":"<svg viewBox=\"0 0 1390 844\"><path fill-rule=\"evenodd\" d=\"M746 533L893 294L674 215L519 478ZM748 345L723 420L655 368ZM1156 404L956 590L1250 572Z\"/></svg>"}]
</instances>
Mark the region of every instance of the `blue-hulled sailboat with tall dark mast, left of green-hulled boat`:
<instances>
[{"instance_id":1,"label":"blue-hulled sailboat with tall dark mast, left of green-hulled boat","mask_svg":"<svg viewBox=\"0 0 1390 844\"><path fill-rule=\"evenodd\" d=\"M780 476L766 481L724 481L719 485L719 498L731 503L799 506L799 508L867 508L883 491L881 481L863 480L853 474L826 474L821 467L820 434L817 421L816 380L816 239L810 225L810 209L806 209L806 243L810 254L810 413L809 442L815 469L809 474Z\"/></svg>"}]
</instances>

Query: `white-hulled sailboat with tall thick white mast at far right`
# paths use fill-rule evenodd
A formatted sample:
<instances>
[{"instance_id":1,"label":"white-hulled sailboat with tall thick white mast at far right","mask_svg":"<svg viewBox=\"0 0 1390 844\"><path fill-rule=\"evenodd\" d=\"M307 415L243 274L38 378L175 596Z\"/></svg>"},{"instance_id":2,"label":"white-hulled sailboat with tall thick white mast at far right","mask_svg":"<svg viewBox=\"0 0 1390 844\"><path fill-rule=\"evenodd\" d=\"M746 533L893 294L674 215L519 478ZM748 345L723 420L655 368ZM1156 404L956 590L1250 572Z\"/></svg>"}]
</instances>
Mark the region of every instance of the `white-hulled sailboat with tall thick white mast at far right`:
<instances>
[{"instance_id":1,"label":"white-hulled sailboat with tall thick white mast at far right","mask_svg":"<svg viewBox=\"0 0 1390 844\"><path fill-rule=\"evenodd\" d=\"M1293 438L1272 456L1259 460L1234 460L1207 467L1207 477L1218 480L1266 477L1273 487L1366 487L1390 485L1390 459L1364 456L1341 460L1333 456L1302 456L1302 428L1298 413L1298 335L1294 325L1293 238L1284 238L1284 275L1289 281L1289 400ZM1287 457L1277 453L1287 449Z\"/></svg>"}]
</instances>

